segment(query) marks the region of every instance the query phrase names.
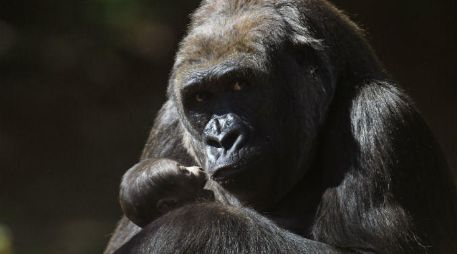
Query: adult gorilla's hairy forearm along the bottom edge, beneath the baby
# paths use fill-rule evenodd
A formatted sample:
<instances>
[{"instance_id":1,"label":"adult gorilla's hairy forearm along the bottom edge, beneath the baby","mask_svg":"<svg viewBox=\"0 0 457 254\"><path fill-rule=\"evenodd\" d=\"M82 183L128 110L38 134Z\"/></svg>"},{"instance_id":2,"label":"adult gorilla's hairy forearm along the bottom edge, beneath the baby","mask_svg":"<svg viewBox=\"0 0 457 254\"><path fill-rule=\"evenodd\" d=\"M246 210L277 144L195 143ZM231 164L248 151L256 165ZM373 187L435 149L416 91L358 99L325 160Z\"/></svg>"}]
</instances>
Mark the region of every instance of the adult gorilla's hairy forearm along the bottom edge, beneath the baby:
<instances>
[{"instance_id":1,"label":"adult gorilla's hairy forearm along the bottom edge, beneath the baby","mask_svg":"<svg viewBox=\"0 0 457 254\"><path fill-rule=\"evenodd\" d=\"M200 203L181 207L160 217L115 253L345 252L294 235L251 209Z\"/></svg>"}]
</instances>

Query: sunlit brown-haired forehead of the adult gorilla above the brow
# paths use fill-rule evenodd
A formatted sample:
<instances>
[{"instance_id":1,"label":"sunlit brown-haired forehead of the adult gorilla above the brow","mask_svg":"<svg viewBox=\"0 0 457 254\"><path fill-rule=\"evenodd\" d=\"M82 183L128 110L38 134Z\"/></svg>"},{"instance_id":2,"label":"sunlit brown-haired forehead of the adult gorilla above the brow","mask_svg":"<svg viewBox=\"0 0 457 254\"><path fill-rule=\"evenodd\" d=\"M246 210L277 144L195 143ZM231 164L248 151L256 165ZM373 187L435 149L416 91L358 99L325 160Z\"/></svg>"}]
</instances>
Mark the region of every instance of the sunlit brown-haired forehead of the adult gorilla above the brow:
<instances>
[{"instance_id":1,"label":"sunlit brown-haired forehead of the adult gorilla above the brow","mask_svg":"<svg viewBox=\"0 0 457 254\"><path fill-rule=\"evenodd\" d=\"M176 78L195 69L229 62L258 65L277 42L281 19L271 8L250 7L231 12L208 13L194 20L176 58ZM272 29L272 28L275 29Z\"/></svg>"}]
</instances>

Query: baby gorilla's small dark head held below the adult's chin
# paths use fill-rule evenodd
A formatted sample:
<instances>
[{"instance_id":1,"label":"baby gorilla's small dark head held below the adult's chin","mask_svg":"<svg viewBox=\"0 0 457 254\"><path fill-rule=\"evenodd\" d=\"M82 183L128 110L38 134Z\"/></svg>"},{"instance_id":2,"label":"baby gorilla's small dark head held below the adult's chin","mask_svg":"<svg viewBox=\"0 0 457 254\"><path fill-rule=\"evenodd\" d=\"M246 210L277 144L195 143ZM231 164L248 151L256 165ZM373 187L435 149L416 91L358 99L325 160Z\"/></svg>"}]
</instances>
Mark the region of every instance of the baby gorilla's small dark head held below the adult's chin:
<instances>
[{"instance_id":1,"label":"baby gorilla's small dark head held below the adult's chin","mask_svg":"<svg viewBox=\"0 0 457 254\"><path fill-rule=\"evenodd\" d=\"M122 178L119 199L124 214L144 227L161 215L194 201L214 200L203 189L208 177L199 167L168 159L143 160Z\"/></svg>"}]
</instances>

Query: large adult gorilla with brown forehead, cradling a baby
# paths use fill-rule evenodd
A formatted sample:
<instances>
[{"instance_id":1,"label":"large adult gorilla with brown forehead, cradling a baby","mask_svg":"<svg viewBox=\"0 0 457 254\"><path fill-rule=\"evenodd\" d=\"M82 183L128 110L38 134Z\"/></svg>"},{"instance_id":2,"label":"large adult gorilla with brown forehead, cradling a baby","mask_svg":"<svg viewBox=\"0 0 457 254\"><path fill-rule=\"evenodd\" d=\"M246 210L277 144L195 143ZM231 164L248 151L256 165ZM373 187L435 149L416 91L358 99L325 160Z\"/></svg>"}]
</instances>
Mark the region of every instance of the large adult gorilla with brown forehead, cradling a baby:
<instances>
[{"instance_id":1,"label":"large adult gorilla with brown forehead, cradling a baby","mask_svg":"<svg viewBox=\"0 0 457 254\"><path fill-rule=\"evenodd\" d=\"M107 253L457 253L434 138L329 3L204 1L168 98L143 159L201 166L244 206L124 218ZM122 188L141 194L139 173Z\"/></svg>"}]
</instances>

